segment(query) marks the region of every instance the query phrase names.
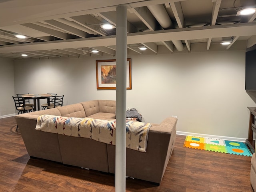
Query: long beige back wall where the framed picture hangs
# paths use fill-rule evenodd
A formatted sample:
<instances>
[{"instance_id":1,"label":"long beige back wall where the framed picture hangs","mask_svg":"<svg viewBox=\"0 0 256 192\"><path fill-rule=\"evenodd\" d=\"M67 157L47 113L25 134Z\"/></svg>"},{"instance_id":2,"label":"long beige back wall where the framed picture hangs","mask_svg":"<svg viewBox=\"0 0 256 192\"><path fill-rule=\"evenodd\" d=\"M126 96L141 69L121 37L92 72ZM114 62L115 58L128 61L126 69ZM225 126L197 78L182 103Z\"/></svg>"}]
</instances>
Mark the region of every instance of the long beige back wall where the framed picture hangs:
<instances>
[{"instance_id":1,"label":"long beige back wall where the framed picture hangs","mask_svg":"<svg viewBox=\"0 0 256 192\"><path fill-rule=\"evenodd\" d=\"M129 58L132 90L127 91L127 107L137 108L146 122L159 123L174 115L180 132L247 137L247 106L256 104L244 90L244 51ZM64 94L65 105L115 100L114 90L96 90L95 60L15 61L15 93L56 92Z\"/></svg>"}]
</instances>

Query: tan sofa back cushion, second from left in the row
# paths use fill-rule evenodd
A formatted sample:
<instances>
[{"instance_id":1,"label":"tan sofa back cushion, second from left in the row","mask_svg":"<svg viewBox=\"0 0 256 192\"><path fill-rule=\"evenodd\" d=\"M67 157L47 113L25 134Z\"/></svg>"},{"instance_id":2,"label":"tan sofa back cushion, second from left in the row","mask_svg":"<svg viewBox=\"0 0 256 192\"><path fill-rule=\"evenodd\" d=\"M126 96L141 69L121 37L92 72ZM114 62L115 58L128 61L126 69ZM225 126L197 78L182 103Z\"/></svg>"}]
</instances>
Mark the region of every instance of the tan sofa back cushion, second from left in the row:
<instances>
[{"instance_id":1,"label":"tan sofa back cushion, second from left in the row","mask_svg":"<svg viewBox=\"0 0 256 192\"><path fill-rule=\"evenodd\" d=\"M64 117L85 117L84 107L80 103L57 108Z\"/></svg>"}]
</instances>

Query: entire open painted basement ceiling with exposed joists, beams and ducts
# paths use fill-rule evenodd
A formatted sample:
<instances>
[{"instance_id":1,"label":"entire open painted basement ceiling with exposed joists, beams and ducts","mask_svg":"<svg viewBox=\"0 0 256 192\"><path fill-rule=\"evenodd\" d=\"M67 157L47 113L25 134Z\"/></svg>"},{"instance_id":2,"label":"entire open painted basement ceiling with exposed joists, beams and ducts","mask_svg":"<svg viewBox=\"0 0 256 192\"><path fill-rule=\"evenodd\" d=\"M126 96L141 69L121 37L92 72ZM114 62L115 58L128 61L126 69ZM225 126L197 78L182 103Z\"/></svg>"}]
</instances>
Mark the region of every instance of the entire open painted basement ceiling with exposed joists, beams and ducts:
<instances>
[{"instance_id":1,"label":"entire open painted basement ceiling with exposed joists, beams and ducts","mask_svg":"<svg viewBox=\"0 0 256 192\"><path fill-rule=\"evenodd\" d=\"M236 14L256 7L256 0L0 0L0 57L115 57L116 29L100 26L116 26L120 4L128 9L128 55L249 50L256 44L256 13ZM222 46L222 40L232 43Z\"/></svg>"}]
</instances>

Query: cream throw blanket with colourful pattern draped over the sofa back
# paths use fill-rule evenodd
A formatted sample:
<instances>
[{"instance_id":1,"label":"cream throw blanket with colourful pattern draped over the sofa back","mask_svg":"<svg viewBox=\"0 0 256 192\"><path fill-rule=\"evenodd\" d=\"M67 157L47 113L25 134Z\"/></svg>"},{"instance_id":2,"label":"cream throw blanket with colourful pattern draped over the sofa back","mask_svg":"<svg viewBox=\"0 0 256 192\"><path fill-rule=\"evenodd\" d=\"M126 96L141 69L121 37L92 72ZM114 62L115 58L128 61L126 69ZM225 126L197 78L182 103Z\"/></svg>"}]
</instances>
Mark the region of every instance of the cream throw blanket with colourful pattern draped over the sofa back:
<instances>
[{"instance_id":1,"label":"cream throw blanket with colourful pattern draped over the sofa back","mask_svg":"<svg viewBox=\"0 0 256 192\"><path fill-rule=\"evenodd\" d=\"M126 121L126 148L146 152L151 126L150 123ZM116 144L115 120L41 115L37 118L36 130Z\"/></svg>"}]
</instances>

